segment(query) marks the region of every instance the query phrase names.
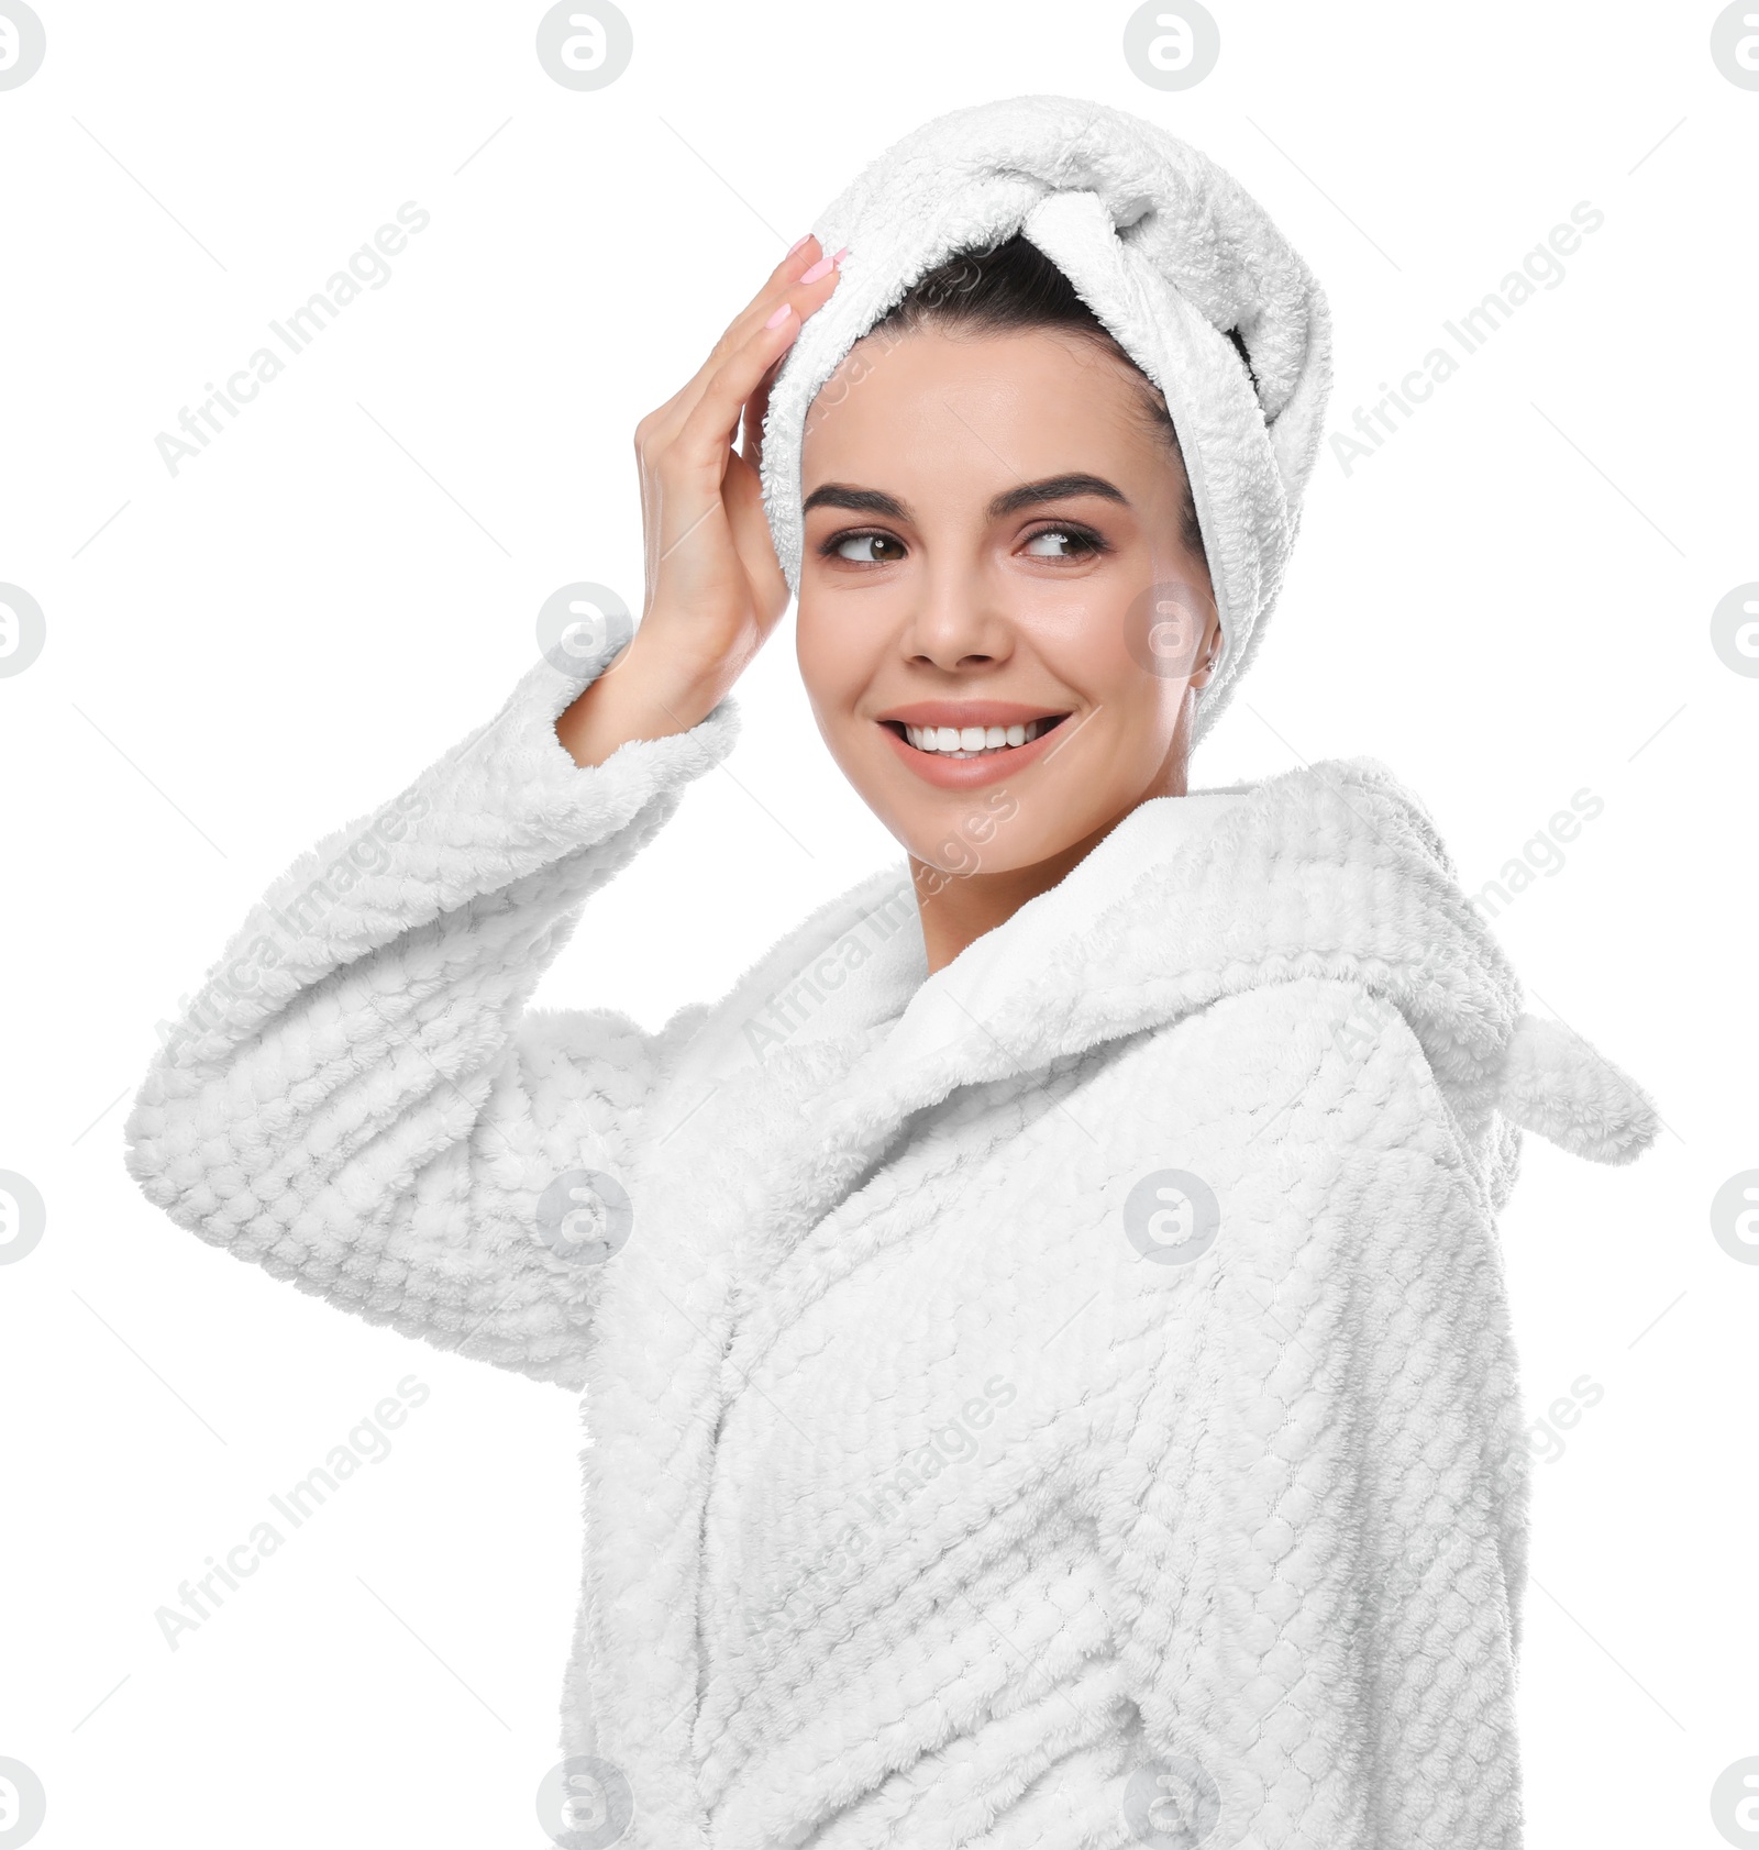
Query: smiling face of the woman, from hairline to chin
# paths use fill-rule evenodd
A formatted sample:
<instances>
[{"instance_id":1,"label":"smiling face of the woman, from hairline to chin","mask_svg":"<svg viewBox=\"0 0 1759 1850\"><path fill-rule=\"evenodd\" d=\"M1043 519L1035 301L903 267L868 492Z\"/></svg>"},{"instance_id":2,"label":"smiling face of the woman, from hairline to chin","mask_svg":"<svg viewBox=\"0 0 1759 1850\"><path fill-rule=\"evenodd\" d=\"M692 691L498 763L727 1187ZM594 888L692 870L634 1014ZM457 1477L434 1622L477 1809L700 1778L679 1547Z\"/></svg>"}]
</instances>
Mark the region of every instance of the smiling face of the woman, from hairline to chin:
<instances>
[{"instance_id":1,"label":"smiling face of the woman, from hairline to chin","mask_svg":"<svg viewBox=\"0 0 1759 1850\"><path fill-rule=\"evenodd\" d=\"M1078 335L929 327L869 335L812 405L801 675L929 868L1078 858L1184 792L1215 605L1141 390Z\"/></svg>"}]
</instances>

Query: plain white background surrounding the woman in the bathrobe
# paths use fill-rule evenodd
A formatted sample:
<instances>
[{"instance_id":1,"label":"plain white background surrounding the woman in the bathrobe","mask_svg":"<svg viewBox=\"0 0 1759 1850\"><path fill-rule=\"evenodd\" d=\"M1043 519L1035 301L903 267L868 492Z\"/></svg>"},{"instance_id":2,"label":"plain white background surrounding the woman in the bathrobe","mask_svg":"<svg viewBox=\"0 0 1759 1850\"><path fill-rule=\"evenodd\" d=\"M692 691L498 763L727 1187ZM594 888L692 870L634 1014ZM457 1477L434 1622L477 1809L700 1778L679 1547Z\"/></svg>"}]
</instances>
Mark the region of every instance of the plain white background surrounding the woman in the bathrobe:
<instances>
[{"instance_id":1,"label":"plain white background surrounding the woman in the bathrobe","mask_svg":"<svg viewBox=\"0 0 1759 1850\"><path fill-rule=\"evenodd\" d=\"M1496 919L1530 1006L1659 1101L1635 1167L1528 1140L1502 1221L1533 1417L1530 1844L1718 1844L1759 1754L1752 1325L1709 1201L1759 1166L1753 716L1709 614L1759 579L1759 92L1715 7L1212 0L1187 92L1128 7L640 4L573 92L542 7L39 0L0 92L0 1167L48 1234L0 1269L0 1754L44 1850L544 1837L581 1548L566 1393L337 1317L178 1230L122 1167L154 1023L259 890L488 718L572 579L640 607L631 433L781 250L923 118L1028 91L1134 109L1322 279L1330 431L1520 266L1605 224L1408 427L1324 451L1273 627L1197 784L1365 753L1478 888L1589 786ZM154 448L405 200L431 224L176 477ZM812 727L792 620L744 740L540 1001L657 1027L895 849ZM1657 1321L1659 1319L1659 1321ZM414 1373L431 1399L172 1652L155 1610ZM612 1511L614 1515L614 1511Z\"/></svg>"}]
</instances>

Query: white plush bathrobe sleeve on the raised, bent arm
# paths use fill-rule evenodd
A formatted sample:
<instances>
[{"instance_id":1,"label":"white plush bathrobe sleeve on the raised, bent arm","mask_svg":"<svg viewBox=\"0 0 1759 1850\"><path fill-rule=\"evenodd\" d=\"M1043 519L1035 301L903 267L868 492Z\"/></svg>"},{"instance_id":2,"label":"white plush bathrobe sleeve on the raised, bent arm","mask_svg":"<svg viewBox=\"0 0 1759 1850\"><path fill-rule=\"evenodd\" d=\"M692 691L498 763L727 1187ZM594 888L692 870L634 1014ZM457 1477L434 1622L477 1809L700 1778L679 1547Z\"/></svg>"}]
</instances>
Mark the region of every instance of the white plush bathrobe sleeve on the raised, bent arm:
<instances>
[{"instance_id":1,"label":"white plush bathrobe sleeve on the raised, bent arm","mask_svg":"<svg viewBox=\"0 0 1759 1850\"><path fill-rule=\"evenodd\" d=\"M581 768L536 662L370 816L301 855L161 1023L129 1173L179 1227L368 1323L577 1389L640 1114L699 1005L646 1034L531 1012L583 903L738 733Z\"/></svg>"}]
</instances>

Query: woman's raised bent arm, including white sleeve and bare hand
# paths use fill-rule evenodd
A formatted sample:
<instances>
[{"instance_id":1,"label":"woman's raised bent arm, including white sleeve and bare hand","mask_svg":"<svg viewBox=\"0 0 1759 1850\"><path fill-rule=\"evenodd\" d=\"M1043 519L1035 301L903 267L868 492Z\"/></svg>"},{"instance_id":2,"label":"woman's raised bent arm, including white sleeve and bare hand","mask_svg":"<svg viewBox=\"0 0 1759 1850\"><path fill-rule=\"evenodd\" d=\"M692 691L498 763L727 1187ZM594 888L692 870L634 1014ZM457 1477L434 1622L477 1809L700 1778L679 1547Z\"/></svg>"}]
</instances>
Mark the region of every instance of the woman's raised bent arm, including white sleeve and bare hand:
<instances>
[{"instance_id":1,"label":"woman's raised bent arm, including white sleeve and bare hand","mask_svg":"<svg viewBox=\"0 0 1759 1850\"><path fill-rule=\"evenodd\" d=\"M629 1232L616 1171L701 1010L649 1038L525 1003L584 899L732 746L727 694L786 609L756 461L768 381L836 287L806 246L636 426L647 596L616 672L540 662L496 720L296 862L166 1034L126 1128L129 1173L179 1227L568 1388Z\"/></svg>"}]
</instances>

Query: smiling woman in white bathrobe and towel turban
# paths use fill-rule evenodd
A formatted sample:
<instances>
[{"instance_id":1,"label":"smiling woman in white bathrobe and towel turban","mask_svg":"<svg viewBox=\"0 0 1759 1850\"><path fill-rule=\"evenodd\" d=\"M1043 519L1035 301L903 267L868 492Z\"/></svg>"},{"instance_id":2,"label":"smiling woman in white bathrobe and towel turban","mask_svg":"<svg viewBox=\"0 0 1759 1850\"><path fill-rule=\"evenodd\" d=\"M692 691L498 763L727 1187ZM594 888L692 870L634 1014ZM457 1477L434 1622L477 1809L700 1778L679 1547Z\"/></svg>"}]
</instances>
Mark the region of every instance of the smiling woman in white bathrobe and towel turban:
<instances>
[{"instance_id":1,"label":"smiling woman in white bathrobe and towel turban","mask_svg":"<svg viewBox=\"0 0 1759 1850\"><path fill-rule=\"evenodd\" d=\"M633 640L274 884L135 1104L179 1225L584 1391L557 1843L1520 1833L1519 1128L1642 1093L1367 758L1187 790L1324 300L1093 104L929 124L636 429ZM904 849L647 1034L533 988L797 592Z\"/></svg>"}]
</instances>

